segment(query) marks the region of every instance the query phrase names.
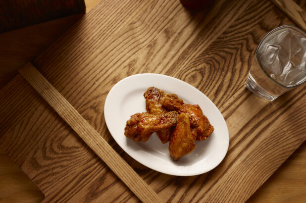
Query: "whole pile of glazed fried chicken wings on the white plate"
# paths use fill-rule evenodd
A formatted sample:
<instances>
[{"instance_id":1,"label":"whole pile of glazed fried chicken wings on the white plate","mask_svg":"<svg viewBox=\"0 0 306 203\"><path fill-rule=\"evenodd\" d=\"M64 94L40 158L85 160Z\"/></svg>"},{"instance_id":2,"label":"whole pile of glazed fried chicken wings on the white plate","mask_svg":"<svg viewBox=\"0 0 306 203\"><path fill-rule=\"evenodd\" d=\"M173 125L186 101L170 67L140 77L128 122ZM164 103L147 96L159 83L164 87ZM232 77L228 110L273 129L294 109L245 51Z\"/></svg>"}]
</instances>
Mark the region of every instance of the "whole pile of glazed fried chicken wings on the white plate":
<instances>
[{"instance_id":1,"label":"whole pile of glazed fried chicken wings on the white plate","mask_svg":"<svg viewBox=\"0 0 306 203\"><path fill-rule=\"evenodd\" d=\"M156 132L162 143L169 142L174 160L193 152L195 140L207 139L214 128L198 104L188 104L175 94L150 87L144 93L147 112L136 113L126 122L124 135L146 142Z\"/></svg>"}]
</instances>

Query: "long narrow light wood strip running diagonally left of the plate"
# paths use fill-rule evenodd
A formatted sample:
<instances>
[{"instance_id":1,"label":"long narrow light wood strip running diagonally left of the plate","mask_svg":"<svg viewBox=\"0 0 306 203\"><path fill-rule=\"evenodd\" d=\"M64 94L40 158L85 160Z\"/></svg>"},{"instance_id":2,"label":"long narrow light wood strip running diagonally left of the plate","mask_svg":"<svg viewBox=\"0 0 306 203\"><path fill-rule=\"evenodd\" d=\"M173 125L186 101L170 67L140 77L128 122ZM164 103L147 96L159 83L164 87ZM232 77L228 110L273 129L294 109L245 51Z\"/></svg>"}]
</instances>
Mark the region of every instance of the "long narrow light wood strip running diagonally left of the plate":
<instances>
[{"instance_id":1,"label":"long narrow light wood strip running diagonally left of the plate","mask_svg":"<svg viewBox=\"0 0 306 203\"><path fill-rule=\"evenodd\" d=\"M107 144L101 135L31 63L26 63L19 70L19 73L142 202L162 202L150 186Z\"/></svg>"}]
</instances>

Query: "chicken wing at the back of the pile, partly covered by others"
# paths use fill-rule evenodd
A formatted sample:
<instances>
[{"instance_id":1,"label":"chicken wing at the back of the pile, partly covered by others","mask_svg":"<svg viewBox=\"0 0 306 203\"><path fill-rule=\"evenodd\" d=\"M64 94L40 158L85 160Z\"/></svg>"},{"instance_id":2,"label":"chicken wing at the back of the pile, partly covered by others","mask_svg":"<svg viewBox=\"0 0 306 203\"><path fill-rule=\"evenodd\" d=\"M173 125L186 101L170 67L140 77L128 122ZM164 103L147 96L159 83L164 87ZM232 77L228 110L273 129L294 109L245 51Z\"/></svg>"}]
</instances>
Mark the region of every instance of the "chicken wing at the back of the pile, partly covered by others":
<instances>
[{"instance_id":1,"label":"chicken wing at the back of the pile, partly covered by others","mask_svg":"<svg viewBox=\"0 0 306 203\"><path fill-rule=\"evenodd\" d=\"M160 100L166 96L166 93L162 90L159 90L154 87L150 87L144 93L146 99L146 110L152 114L164 114L168 112L165 108L162 107ZM170 140L171 133L173 128L166 128L156 131L156 134L161 141L165 144Z\"/></svg>"}]
</instances>

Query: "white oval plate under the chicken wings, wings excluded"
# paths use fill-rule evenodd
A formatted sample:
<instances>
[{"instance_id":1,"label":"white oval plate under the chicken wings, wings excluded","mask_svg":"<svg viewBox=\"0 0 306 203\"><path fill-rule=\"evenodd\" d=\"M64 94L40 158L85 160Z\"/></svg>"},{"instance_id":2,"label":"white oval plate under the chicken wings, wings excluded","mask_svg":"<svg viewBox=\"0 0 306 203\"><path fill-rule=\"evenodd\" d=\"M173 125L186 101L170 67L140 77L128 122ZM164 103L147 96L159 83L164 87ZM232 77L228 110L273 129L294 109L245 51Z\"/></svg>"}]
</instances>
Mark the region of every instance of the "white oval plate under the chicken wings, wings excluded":
<instances>
[{"instance_id":1,"label":"white oval plate under the chicken wings, wings excluded","mask_svg":"<svg viewBox=\"0 0 306 203\"><path fill-rule=\"evenodd\" d=\"M196 150L178 161L171 159L169 144L162 144L156 133L145 143L136 143L124 135L130 116L146 111L143 95L152 86L176 94L186 103L199 104L214 127L207 140L196 141ZM104 117L110 134L125 152L145 166L169 175L192 176L210 171L222 161L229 145L227 125L213 102L195 87L166 75L138 74L119 81L106 97Z\"/></svg>"}]
</instances>

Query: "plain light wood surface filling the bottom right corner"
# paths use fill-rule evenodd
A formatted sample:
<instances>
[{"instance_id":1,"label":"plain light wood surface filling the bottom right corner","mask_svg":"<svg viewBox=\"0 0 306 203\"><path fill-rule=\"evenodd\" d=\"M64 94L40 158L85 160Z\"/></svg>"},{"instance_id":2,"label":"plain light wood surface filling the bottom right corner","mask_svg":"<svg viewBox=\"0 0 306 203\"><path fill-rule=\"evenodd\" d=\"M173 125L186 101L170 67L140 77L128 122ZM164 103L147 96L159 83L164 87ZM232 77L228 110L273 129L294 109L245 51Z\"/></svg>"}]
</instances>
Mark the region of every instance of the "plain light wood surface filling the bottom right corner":
<instances>
[{"instance_id":1,"label":"plain light wood surface filling the bottom right corner","mask_svg":"<svg viewBox=\"0 0 306 203\"><path fill-rule=\"evenodd\" d=\"M306 142L255 192L248 203L304 203Z\"/></svg>"}]
</instances>

